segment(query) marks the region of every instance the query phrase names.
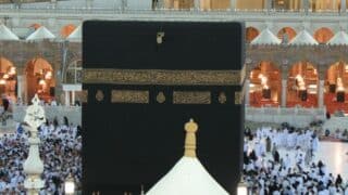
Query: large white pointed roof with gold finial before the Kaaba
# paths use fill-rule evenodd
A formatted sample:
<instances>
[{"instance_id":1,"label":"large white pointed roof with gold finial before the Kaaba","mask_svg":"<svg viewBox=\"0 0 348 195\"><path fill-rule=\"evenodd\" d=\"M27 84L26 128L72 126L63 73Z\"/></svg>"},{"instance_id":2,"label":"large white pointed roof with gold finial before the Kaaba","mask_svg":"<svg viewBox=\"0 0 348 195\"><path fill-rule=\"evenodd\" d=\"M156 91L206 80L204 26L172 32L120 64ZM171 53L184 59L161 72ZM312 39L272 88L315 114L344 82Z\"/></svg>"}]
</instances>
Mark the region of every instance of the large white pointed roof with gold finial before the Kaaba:
<instances>
[{"instance_id":1,"label":"large white pointed roof with gold finial before the Kaaba","mask_svg":"<svg viewBox=\"0 0 348 195\"><path fill-rule=\"evenodd\" d=\"M185 156L146 195L228 195L196 157L198 125L185 125Z\"/></svg>"}]
</instances>

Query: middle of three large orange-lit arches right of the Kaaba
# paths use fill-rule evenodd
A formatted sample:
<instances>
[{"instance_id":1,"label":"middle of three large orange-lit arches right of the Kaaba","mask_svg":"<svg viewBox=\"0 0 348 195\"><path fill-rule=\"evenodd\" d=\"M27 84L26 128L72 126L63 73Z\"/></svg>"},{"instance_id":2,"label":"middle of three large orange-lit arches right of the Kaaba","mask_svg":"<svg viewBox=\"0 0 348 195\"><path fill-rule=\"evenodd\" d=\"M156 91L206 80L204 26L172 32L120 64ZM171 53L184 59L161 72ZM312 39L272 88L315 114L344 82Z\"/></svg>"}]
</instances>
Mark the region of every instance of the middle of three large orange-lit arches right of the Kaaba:
<instances>
[{"instance_id":1,"label":"middle of three large orange-lit arches right of the Kaaba","mask_svg":"<svg viewBox=\"0 0 348 195\"><path fill-rule=\"evenodd\" d=\"M301 61L293 64L287 79L287 106L318 107L319 73L313 64Z\"/></svg>"}]
</instances>

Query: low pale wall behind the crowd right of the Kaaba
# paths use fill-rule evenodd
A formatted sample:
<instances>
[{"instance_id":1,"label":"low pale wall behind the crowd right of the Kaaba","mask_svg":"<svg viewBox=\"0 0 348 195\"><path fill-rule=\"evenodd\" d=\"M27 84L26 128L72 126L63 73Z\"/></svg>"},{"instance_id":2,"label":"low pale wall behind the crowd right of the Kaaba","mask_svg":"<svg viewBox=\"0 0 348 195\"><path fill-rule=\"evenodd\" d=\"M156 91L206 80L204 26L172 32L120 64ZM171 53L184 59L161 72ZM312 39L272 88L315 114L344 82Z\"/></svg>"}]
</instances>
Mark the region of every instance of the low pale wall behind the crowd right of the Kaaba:
<instances>
[{"instance_id":1,"label":"low pale wall behind the crowd right of the Kaaba","mask_svg":"<svg viewBox=\"0 0 348 195\"><path fill-rule=\"evenodd\" d=\"M256 122L289 122L304 127L314 120L325 120L325 117L326 108L246 107L246 120Z\"/></svg>"}]
</instances>

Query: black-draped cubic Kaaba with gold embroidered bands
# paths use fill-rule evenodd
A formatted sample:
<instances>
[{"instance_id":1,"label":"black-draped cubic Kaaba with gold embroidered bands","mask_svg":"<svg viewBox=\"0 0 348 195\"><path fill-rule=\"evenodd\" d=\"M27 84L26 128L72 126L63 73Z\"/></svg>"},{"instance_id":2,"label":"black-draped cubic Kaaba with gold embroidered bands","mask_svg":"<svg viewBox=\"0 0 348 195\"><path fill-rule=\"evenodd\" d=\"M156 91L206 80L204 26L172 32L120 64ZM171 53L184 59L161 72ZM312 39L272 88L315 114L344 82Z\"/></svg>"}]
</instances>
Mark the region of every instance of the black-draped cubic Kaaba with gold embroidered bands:
<instances>
[{"instance_id":1,"label":"black-draped cubic Kaaba with gold embroidered bands","mask_svg":"<svg viewBox=\"0 0 348 195\"><path fill-rule=\"evenodd\" d=\"M147 192L184 154L236 193L243 165L244 24L101 22L83 25L83 194Z\"/></svg>"}]
</instances>

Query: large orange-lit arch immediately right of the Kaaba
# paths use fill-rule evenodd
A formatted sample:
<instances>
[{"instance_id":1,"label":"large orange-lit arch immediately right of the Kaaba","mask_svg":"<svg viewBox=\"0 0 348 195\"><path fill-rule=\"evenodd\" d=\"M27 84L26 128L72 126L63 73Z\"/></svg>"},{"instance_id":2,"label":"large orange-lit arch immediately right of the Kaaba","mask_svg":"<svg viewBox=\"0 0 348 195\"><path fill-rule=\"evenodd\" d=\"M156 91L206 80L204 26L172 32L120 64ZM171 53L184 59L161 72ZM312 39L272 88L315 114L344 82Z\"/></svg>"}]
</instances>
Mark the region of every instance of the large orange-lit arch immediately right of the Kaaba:
<instances>
[{"instance_id":1,"label":"large orange-lit arch immediately right of the Kaaba","mask_svg":"<svg viewBox=\"0 0 348 195\"><path fill-rule=\"evenodd\" d=\"M271 61L260 62L249 75L249 105L278 106L282 94L282 74Z\"/></svg>"}]
</instances>

